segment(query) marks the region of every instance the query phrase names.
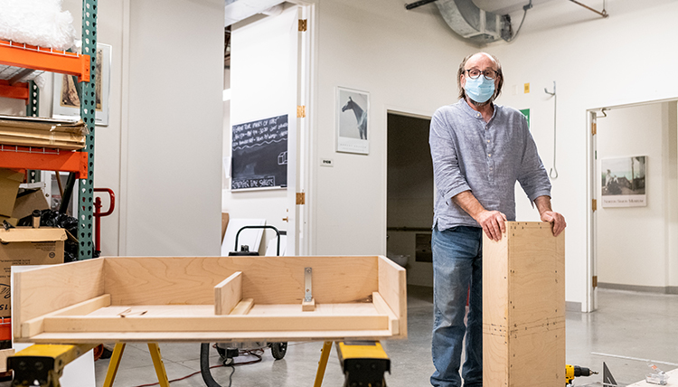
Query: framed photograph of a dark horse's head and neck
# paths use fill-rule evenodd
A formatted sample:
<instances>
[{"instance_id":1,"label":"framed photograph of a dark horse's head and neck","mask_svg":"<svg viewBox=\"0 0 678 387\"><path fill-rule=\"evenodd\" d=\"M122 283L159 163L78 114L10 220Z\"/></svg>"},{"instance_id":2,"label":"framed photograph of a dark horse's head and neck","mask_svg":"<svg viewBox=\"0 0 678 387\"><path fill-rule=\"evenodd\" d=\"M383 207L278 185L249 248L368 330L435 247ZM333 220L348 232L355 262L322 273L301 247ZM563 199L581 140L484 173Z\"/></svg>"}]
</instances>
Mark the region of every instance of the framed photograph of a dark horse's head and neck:
<instances>
[{"instance_id":1,"label":"framed photograph of a dark horse's head and neck","mask_svg":"<svg viewBox=\"0 0 678 387\"><path fill-rule=\"evenodd\" d=\"M370 93L336 88L337 152L370 153Z\"/></svg>"}]
</instances>

